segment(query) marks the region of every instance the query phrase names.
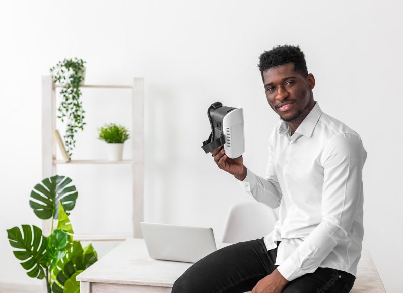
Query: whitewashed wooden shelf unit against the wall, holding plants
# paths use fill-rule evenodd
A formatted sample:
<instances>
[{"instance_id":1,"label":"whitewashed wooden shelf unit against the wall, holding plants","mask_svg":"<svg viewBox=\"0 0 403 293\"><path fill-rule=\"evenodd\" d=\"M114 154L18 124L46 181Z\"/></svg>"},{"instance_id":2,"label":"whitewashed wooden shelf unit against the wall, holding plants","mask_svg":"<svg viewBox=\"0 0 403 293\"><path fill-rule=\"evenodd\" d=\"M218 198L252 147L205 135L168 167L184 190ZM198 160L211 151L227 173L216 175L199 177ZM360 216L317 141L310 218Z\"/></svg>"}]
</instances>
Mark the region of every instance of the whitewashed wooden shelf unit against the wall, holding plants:
<instances>
[{"instance_id":1,"label":"whitewashed wooden shelf unit against the wall, holding plants","mask_svg":"<svg viewBox=\"0 0 403 293\"><path fill-rule=\"evenodd\" d=\"M75 240L119 241L129 237L143 238L140 222L144 218L144 78L133 78L132 85L83 85L83 88L126 88L132 91L132 159L122 161L56 159L56 141L53 130L56 128L56 88L51 75L42 76L42 178L57 174L58 164L131 164L132 165L132 235L76 235ZM83 96L82 96L83 97ZM51 219L42 222L44 235L49 235Z\"/></svg>"}]
</instances>

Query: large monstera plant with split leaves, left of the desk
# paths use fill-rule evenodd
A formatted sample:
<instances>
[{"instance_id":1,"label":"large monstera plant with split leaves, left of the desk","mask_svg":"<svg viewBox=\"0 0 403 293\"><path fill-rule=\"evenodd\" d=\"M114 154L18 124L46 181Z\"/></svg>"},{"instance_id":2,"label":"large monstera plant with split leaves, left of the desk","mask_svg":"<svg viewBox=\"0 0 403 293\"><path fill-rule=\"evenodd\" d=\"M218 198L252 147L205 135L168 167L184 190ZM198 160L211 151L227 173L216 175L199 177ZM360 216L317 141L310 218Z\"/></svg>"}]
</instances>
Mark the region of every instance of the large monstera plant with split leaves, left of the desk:
<instances>
[{"instance_id":1,"label":"large monstera plant with split leaves, left of the desk","mask_svg":"<svg viewBox=\"0 0 403 293\"><path fill-rule=\"evenodd\" d=\"M49 292L79 292L76 276L97 261L97 253L89 244L82 247L73 240L69 211L76 205L78 192L65 176L45 178L34 186L30 207L40 219L52 219L49 236L35 225L21 225L7 230L14 255L31 278L46 278ZM57 220L56 229L53 229Z\"/></svg>"}]
</instances>

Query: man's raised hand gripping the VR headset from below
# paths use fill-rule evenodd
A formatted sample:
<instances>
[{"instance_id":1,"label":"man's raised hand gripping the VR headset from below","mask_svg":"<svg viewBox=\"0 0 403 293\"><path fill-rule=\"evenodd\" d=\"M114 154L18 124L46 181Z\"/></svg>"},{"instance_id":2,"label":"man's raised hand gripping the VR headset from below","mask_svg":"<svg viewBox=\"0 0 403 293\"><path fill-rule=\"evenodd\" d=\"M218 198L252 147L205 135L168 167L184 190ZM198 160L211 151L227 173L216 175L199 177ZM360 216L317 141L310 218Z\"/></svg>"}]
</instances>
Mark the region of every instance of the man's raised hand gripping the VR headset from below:
<instances>
[{"instance_id":1,"label":"man's raised hand gripping the VR headset from below","mask_svg":"<svg viewBox=\"0 0 403 293\"><path fill-rule=\"evenodd\" d=\"M220 169L234 175L238 180L242 181L245 179L247 170L243 165L242 156L236 159L227 157L223 146L219 146L218 148L214 149L211 154Z\"/></svg>"}]
</instances>

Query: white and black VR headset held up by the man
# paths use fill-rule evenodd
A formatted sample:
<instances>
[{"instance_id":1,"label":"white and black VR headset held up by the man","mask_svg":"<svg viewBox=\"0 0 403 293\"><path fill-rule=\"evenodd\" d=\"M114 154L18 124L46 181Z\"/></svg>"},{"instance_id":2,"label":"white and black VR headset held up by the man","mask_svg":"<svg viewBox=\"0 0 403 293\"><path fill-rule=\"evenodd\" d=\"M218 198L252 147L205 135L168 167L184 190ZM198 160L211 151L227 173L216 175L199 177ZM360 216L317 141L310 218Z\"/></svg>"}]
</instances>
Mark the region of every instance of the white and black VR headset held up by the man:
<instances>
[{"instance_id":1,"label":"white and black VR headset held up by the man","mask_svg":"<svg viewBox=\"0 0 403 293\"><path fill-rule=\"evenodd\" d=\"M211 104L207 109L211 133L203 142L203 150L209 153L224 145L229 158L238 158L245 152L243 129L243 109L223 106L220 102Z\"/></svg>"}]
</instances>

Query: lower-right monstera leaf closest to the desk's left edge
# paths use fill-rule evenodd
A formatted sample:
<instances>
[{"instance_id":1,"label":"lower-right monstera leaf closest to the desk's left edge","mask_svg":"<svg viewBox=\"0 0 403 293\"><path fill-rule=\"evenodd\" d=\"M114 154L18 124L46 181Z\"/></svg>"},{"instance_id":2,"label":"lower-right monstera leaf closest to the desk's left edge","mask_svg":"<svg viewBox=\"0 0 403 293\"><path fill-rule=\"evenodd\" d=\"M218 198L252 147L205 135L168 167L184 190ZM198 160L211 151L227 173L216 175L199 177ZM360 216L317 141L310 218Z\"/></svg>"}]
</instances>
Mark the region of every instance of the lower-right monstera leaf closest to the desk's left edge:
<instances>
[{"instance_id":1,"label":"lower-right monstera leaf closest to the desk's left edge","mask_svg":"<svg viewBox=\"0 0 403 293\"><path fill-rule=\"evenodd\" d=\"M69 288L72 288L74 292L74 288L79 284L79 282L76 281L76 276L96 261L97 255L92 246L91 248L84 248L82 254L73 257L73 259L64 264L63 269L57 274L56 281L53 282L52 292L70 293ZM75 274L76 276L74 276Z\"/></svg>"}]
</instances>

